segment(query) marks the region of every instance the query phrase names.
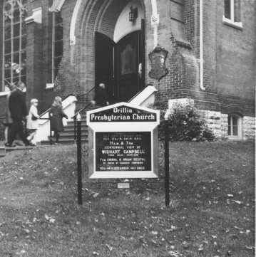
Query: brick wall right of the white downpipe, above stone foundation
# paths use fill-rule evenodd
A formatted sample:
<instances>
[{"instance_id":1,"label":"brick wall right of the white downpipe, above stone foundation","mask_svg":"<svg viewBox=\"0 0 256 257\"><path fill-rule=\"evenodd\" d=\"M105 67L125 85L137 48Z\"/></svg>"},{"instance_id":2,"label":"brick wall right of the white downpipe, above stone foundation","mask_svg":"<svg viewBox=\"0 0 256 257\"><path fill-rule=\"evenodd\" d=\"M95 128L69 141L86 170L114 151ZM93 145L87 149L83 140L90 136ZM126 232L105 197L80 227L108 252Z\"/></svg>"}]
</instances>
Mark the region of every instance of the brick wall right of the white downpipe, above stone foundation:
<instances>
[{"instance_id":1,"label":"brick wall right of the white downpipe, above stone foundation","mask_svg":"<svg viewBox=\"0 0 256 257\"><path fill-rule=\"evenodd\" d=\"M224 1L204 1L204 80L222 112L255 115L255 1L241 1L242 29L222 22ZM229 112L232 112L229 107Z\"/></svg>"}]
</instances>

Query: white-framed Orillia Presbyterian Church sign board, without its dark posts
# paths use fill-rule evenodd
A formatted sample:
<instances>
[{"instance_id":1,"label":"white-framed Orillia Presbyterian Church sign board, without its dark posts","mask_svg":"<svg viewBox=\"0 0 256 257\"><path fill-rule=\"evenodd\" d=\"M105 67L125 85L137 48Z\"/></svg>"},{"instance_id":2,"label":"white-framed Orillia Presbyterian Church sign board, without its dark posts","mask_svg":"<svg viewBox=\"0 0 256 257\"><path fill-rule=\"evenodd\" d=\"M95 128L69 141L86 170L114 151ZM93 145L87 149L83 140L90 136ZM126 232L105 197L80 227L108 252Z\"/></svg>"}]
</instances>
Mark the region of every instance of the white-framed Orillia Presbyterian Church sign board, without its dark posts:
<instances>
[{"instance_id":1,"label":"white-framed Orillia Presbyterian Church sign board, without its dark posts","mask_svg":"<svg viewBox=\"0 0 256 257\"><path fill-rule=\"evenodd\" d=\"M88 111L89 178L157 178L159 116L130 103Z\"/></svg>"}]
</instances>

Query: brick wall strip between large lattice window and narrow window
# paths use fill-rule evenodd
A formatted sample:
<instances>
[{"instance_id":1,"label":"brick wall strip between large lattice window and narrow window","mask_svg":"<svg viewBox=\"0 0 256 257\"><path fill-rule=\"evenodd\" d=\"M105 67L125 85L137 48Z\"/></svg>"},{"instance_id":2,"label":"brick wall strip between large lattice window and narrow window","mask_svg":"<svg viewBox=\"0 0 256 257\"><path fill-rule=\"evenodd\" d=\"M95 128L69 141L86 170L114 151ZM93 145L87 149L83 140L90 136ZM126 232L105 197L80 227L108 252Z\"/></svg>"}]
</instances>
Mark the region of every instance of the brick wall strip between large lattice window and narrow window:
<instances>
[{"instance_id":1,"label":"brick wall strip between large lattice window and narrow window","mask_svg":"<svg viewBox=\"0 0 256 257\"><path fill-rule=\"evenodd\" d=\"M26 25L28 42L27 52L27 102L31 98L39 99L39 112L48 107L46 83L51 81L51 15L49 7L51 1L31 1L27 5L27 15L31 16L32 10L42 8L42 23L29 23Z\"/></svg>"}]
</instances>

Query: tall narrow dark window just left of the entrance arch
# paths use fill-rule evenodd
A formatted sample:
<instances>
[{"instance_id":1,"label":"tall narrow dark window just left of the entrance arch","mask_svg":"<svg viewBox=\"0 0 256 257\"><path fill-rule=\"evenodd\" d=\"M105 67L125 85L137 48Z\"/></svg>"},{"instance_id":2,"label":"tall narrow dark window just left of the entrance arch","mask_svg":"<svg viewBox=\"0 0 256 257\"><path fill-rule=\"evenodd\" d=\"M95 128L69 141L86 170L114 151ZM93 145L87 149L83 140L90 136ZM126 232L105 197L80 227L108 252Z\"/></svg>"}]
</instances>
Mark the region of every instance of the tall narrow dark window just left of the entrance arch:
<instances>
[{"instance_id":1,"label":"tall narrow dark window just left of the entrance arch","mask_svg":"<svg viewBox=\"0 0 256 257\"><path fill-rule=\"evenodd\" d=\"M53 11L51 80L54 83L63 56L63 20L60 12Z\"/></svg>"}]
</instances>

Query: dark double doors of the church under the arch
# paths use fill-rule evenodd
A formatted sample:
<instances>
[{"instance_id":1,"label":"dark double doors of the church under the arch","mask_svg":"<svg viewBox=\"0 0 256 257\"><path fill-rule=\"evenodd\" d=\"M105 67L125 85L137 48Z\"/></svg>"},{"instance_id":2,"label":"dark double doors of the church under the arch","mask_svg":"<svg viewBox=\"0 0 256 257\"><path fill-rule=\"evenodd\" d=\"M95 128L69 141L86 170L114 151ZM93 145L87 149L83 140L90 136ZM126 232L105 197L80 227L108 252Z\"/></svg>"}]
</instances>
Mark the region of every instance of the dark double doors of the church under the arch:
<instances>
[{"instance_id":1,"label":"dark double doors of the church under the arch","mask_svg":"<svg viewBox=\"0 0 256 257\"><path fill-rule=\"evenodd\" d=\"M129 33L117 43L98 32L95 39L96 85L106 84L111 103L130 100L144 86L143 31Z\"/></svg>"}]
</instances>

